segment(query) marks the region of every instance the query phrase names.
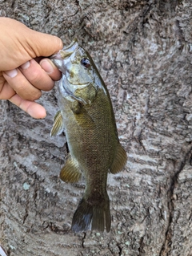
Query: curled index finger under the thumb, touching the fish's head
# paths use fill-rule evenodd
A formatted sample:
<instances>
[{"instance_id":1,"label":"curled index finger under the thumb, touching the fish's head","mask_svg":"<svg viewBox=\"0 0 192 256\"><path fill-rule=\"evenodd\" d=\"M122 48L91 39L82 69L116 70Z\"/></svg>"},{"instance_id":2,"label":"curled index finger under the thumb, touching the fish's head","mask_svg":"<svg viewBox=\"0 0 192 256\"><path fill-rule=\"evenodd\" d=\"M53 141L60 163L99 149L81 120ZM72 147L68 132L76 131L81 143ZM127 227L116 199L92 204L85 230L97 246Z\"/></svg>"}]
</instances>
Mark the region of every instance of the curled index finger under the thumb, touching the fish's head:
<instances>
[{"instance_id":1,"label":"curled index finger under the thumb, touching the fish's head","mask_svg":"<svg viewBox=\"0 0 192 256\"><path fill-rule=\"evenodd\" d=\"M54 63L52 63L50 59L42 59L39 65L54 81L58 81L59 79L61 79L62 73L58 70L58 67L56 67Z\"/></svg>"}]
</instances>

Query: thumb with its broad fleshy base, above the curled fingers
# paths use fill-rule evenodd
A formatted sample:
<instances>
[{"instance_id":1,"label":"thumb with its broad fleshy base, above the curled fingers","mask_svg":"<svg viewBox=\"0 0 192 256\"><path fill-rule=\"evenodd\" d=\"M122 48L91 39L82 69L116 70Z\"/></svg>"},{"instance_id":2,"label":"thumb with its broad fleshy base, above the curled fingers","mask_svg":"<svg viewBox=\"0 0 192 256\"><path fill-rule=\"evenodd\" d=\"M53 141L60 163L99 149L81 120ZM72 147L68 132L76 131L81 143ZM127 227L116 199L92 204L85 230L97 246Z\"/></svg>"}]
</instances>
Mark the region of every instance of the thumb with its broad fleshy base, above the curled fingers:
<instances>
[{"instance_id":1,"label":"thumb with its broad fleshy base, above the curled fingers","mask_svg":"<svg viewBox=\"0 0 192 256\"><path fill-rule=\"evenodd\" d=\"M12 70L29 59L50 56L62 49L58 37L31 30L12 18L1 17L0 25L0 70Z\"/></svg>"}]
</instances>

